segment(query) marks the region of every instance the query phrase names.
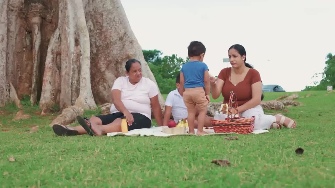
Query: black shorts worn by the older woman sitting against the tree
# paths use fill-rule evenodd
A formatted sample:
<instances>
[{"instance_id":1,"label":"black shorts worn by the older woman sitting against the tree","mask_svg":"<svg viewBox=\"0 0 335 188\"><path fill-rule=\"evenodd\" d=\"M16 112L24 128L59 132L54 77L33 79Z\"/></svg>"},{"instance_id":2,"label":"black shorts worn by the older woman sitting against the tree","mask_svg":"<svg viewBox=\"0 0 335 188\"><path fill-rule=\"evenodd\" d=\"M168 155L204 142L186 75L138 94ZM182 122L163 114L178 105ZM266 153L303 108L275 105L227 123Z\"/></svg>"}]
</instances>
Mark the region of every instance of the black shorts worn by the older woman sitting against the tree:
<instances>
[{"instance_id":1,"label":"black shorts worn by the older woman sitting against the tree","mask_svg":"<svg viewBox=\"0 0 335 188\"><path fill-rule=\"evenodd\" d=\"M133 113L131 114L134 117L134 122L132 125L128 126L128 131L133 129L139 129L139 128L150 128L151 127L151 119L147 118L145 115L140 113ZM95 117L98 117L103 122L103 125L107 125L109 123L112 123L115 119L120 118L124 119L125 116L123 116L123 113L116 112L112 114L107 115L96 115Z\"/></svg>"}]
</instances>

